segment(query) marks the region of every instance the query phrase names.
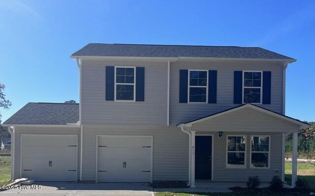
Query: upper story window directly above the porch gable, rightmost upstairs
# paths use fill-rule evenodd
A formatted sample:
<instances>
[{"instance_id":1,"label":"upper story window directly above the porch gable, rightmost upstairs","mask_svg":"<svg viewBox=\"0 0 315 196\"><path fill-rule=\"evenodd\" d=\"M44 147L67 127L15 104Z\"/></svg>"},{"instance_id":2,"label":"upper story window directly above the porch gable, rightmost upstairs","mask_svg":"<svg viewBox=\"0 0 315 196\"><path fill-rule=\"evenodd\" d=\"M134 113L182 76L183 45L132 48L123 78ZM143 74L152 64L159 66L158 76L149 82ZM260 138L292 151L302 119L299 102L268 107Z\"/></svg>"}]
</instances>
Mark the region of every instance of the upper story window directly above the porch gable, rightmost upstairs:
<instances>
[{"instance_id":1,"label":"upper story window directly above the porch gable, rightmost upstairs","mask_svg":"<svg viewBox=\"0 0 315 196\"><path fill-rule=\"evenodd\" d=\"M243 71L243 103L262 102L262 72Z\"/></svg>"}]
</instances>

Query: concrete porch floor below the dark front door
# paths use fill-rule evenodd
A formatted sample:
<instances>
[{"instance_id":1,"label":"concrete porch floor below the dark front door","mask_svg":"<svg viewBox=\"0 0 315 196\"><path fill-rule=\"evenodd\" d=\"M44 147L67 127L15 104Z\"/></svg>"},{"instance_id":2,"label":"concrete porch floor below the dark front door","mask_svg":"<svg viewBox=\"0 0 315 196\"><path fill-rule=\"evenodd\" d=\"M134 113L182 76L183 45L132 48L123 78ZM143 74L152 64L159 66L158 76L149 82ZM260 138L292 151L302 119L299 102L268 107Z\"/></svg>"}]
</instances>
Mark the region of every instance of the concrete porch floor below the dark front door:
<instances>
[{"instance_id":1,"label":"concrete porch floor below the dark front door","mask_svg":"<svg viewBox=\"0 0 315 196\"><path fill-rule=\"evenodd\" d=\"M230 188L243 187L246 188L246 182L214 182L212 180L196 180L196 188ZM268 182L262 182L260 188L268 187ZM291 188L291 186L284 184L284 188Z\"/></svg>"}]
</instances>

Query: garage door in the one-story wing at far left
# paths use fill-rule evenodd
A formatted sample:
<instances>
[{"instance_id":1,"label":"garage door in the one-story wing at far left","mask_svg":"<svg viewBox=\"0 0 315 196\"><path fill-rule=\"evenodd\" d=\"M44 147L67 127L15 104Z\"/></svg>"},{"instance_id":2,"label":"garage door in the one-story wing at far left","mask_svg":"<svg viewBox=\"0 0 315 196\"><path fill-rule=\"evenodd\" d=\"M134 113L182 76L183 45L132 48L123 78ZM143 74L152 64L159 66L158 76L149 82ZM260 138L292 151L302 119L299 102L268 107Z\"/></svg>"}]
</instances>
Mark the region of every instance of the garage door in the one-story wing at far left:
<instances>
[{"instance_id":1,"label":"garage door in the one-story wing at far left","mask_svg":"<svg viewBox=\"0 0 315 196\"><path fill-rule=\"evenodd\" d=\"M76 135L21 135L21 177L35 181L77 180Z\"/></svg>"}]
</instances>

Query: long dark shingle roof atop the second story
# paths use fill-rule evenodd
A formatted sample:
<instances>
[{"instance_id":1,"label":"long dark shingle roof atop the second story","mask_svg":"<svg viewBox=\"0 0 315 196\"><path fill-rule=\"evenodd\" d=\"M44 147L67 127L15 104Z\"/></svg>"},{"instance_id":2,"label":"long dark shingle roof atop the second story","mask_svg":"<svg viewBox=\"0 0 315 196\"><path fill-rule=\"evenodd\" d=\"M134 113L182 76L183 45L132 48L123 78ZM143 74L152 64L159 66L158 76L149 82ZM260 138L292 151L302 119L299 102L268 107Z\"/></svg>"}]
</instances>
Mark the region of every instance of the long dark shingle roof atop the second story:
<instances>
[{"instance_id":1,"label":"long dark shingle roof atop the second story","mask_svg":"<svg viewBox=\"0 0 315 196\"><path fill-rule=\"evenodd\" d=\"M259 47L91 43L72 56L216 57L292 59Z\"/></svg>"}]
</instances>

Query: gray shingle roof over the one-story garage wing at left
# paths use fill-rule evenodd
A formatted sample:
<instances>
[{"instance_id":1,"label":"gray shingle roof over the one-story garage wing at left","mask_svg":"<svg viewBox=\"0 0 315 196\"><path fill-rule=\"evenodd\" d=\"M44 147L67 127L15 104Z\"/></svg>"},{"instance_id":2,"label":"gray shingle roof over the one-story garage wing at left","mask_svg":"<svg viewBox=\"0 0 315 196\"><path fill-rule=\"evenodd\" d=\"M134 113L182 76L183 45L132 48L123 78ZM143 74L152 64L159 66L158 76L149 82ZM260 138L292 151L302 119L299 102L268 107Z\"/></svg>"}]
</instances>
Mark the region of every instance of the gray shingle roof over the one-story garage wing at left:
<instances>
[{"instance_id":1,"label":"gray shingle roof over the one-story garage wing at left","mask_svg":"<svg viewBox=\"0 0 315 196\"><path fill-rule=\"evenodd\" d=\"M3 124L65 125L79 121L79 104L28 103Z\"/></svg>"}]
</instances>

